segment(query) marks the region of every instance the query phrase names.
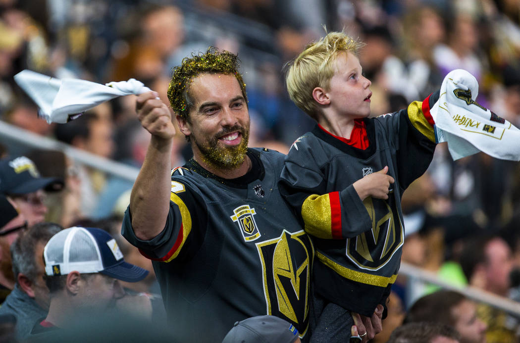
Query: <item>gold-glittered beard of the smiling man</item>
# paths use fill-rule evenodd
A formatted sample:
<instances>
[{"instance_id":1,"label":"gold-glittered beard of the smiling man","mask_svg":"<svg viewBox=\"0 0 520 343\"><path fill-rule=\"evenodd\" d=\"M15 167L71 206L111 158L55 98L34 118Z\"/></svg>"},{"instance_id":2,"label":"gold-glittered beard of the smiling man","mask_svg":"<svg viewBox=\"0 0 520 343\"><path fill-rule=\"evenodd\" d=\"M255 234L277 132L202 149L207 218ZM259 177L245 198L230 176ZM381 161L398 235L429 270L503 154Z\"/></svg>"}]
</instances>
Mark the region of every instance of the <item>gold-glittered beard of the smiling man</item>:
<instances>
[{"instance_id":1,"label":"gold-glittered beard of the smiling man","mask_svg":"<svg viewBox=\"0 0 520 343\"><path fill-rule=\"evenodd\" d=\"M238 131L242 136L240 144L234 147L219 147L217 137L222 137L223 135L232 133L233 131ZM248 151L248 140L249 127L238 125L224 129L204 142L193 139L201 152L204 163L218 169L233 169L240 166L244 162L245 153Z\"/></svg>"}]
</instances>

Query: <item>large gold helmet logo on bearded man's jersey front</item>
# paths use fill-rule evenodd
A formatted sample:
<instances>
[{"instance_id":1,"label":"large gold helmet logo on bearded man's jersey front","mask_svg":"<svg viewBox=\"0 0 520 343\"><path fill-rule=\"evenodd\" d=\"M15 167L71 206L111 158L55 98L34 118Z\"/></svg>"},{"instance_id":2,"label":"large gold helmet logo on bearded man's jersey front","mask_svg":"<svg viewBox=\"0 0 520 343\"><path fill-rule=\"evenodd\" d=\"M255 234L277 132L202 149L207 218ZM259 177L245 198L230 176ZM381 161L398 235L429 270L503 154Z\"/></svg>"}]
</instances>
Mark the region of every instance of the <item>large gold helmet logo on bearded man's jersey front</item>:
<instances>
[{"instance_id":1,"label":"large gold helmet logo on bearded man's jersey front","mask_svg":"<svg viewBox=\"0 0 520 343\"><path fill-rule=\"evenodd\" d=\"M276 315L303 336L309 323L309 284L314 248L302 230L256 243L264 269L267 314ZM301 336L301 337L302 337Z\"/></svg>"}]
</instances>

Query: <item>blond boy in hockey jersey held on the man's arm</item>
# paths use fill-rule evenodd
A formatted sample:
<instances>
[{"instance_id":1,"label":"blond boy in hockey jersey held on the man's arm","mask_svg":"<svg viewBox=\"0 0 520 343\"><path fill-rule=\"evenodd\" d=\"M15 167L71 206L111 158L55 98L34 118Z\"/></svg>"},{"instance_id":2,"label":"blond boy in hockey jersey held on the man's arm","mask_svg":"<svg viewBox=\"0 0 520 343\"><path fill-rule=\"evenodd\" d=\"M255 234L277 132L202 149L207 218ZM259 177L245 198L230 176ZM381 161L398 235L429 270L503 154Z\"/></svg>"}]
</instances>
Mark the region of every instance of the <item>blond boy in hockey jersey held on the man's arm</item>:
<instances>
[{"instance_id":1,"label":"blond boy in hockey jersey held on the man's arm","mask_svg":"<svg viewBox=\"0 0 520 343\"><path fill-rule=\"evenodd\" d=\"M354 320L381 315L404 240L401 194L435 150L430 107L438 93L370 118L361 47L331 32L308 45L287 72L291 99L317 122L294 142L279 183L316 247L313 341L341 341Z\"/></svg>"}]
</instances>

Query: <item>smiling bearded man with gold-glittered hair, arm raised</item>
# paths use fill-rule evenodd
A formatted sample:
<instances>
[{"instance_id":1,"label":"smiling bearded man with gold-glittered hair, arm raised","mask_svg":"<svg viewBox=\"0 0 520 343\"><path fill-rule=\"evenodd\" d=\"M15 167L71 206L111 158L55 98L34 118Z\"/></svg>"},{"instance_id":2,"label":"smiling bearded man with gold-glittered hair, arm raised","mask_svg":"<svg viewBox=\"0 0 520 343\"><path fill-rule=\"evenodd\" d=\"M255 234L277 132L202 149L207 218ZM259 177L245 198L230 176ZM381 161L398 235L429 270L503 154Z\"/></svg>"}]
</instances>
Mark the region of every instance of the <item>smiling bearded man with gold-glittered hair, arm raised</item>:
<instances>
[{"instance_id":1,"label":"smiling bearded man with gold-glittered hair, arm raised","mask_svg":"<svg viewBox=\"0 0 520 343\"><path fill-rule=\"evenodd\" d=\"M238 59L209 49L174 69L168 98L193 158L172 168L175 128L157 93L137 98L151 133L122 233L153 261L176 341L221 341L271 314L308 341L314 250L278 192L284 155L248 148Z\"/></svg>"}]
</instances>

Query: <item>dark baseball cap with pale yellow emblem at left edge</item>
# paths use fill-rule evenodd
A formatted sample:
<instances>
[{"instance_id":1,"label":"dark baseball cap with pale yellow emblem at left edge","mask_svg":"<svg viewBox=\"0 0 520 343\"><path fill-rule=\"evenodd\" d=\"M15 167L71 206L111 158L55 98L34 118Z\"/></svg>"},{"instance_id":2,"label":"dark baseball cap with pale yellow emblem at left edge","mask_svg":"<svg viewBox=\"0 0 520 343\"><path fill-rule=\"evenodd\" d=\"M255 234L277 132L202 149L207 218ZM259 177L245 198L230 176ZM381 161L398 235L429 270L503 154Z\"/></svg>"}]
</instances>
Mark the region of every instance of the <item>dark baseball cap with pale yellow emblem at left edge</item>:
<instances>
[{"instance_id":1,"label":"dark baseball cap with pale yellow emblem at left edge","mask_svg":"<svg viewBox=\"0 0 520 343\"><path fill-rule=\"evenodd\" d=\"M34 162L25 156L0 161L0 193L28 194L39 189L48 192L63 188L63 180L40 177Z\"/></svg>"}]
</instances>

